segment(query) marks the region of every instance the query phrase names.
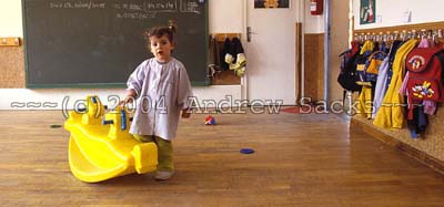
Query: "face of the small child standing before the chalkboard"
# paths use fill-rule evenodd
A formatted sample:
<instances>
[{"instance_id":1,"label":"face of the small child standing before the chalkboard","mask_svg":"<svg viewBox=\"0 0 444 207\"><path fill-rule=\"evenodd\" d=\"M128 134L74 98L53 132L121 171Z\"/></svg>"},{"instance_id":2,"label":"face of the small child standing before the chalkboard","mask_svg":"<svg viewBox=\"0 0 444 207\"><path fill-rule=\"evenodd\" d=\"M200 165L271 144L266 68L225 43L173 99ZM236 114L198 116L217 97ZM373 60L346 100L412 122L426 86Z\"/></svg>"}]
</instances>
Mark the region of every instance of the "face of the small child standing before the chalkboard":
<instances>
[{"instance_id":1,"label":"face of the small child standing before the chalkboard","mask_svg":"<svg viewBox=\"0 0 444 207\"><path fill-rule=\"evenodd\" d=\"M171 51L174 45L170 42L167 35L150 37L151 53L159 62L168 62L171 59Z\"/></svg>"}]
</instances>

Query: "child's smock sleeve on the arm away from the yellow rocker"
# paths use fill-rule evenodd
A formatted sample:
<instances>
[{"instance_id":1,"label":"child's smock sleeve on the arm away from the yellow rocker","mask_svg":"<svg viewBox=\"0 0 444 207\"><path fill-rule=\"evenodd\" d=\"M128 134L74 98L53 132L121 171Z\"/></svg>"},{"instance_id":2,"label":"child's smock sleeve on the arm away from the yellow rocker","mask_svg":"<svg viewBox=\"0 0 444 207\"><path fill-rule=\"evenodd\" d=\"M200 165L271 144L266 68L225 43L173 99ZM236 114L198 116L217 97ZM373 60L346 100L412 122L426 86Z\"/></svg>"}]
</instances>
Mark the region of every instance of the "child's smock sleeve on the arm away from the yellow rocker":
<instances>
[{"instance_id":1,"label":"child's smock sleeve on the arm away from the yellow rocker","mask_svg":"<svg viewBox=\"0 0 444 207\"><path fill-rule=\"evenodd\" d=\"M178 85L178 106L182 110L191 107L193 92L191 90L190 79L188 77L186 69L179 70L179 85Z\"/></svg>"}]
</instances>

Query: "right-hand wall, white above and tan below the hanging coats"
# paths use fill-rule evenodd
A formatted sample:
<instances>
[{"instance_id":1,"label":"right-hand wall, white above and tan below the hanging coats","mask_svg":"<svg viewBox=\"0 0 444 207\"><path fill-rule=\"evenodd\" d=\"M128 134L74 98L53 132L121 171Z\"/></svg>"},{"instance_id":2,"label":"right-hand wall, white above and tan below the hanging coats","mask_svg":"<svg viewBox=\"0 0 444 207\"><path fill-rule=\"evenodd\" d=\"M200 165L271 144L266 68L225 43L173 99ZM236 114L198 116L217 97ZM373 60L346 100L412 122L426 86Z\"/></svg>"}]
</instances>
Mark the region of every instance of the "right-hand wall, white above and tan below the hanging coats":
<instances>
[{"instance_id":1,"label":"right-hand wall, white above and tan below the hanging coats","mask_svg":"<svg viewBox=\"0 0 444 207\"><path fill-rule=\"evenodd\" d=\"M422 0L422 1L406 1L391 0L376 2L376 17L381 15L382 21L365 25L359 25L359 0L353 0L353 14L355 19L355 29L374 29L381 27L402 25L402 12L412 11L412 21L410 23L426 23L442 21L442 8L444 1L438 0ZM393 7L396 6L396 7ZM426 155L432 156L438 161L444 161L444 108L441 106L437 114L428 116L430 125L422 138L413 139L407 130L385 130L376 127L369 121L359 115L353 117L353 121L359 121L366 126L370 126L379 132L390 135L392 138L407 144L415 149L424 152ZM421 157L420 157L421 158Z\"/></svg>"}]
</instances>

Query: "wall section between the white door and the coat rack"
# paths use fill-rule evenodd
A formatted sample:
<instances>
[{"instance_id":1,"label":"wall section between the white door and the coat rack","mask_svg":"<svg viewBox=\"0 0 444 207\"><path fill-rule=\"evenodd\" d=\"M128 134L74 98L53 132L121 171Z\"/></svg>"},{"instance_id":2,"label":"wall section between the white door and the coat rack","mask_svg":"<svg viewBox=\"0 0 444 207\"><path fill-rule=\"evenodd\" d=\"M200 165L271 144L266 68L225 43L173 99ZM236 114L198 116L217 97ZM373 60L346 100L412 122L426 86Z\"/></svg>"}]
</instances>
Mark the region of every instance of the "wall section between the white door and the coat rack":
<instances>
[{"instance_id":1,"label":"wall section between the white door and the coat rack","mask_svg":"<svg viewBox=\"0 0 444 207\"><path fill-rule=\"evenodd\" d=\"M343 90L337 84L340 59L344 50L349 48L349 1L330 1L330 54L329 54L329 101L343 99ZM325 4L324 4L325 6ZM325 17L310 14L310 1L305 1L305 46L304 46L304 70L305 70L305 97L314 101L324 99L324 33ZM325 7L324 7L325 13ZM341 22L341 23L337 23ZM316 83L316 84L313 84Z\"/></svg>"}]
</instances>

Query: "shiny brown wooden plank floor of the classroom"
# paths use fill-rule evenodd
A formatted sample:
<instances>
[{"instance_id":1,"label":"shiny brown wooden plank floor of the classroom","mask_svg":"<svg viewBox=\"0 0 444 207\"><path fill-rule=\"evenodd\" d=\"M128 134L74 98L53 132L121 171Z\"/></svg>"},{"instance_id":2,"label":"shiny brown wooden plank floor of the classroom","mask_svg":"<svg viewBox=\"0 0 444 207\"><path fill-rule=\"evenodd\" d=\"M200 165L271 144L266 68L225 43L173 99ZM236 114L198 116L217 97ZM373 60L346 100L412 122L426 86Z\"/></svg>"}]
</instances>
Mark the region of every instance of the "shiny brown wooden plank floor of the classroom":
<instances>
[{"instance_id":1,"label":"shiny brown wooden plank floor of the classroom","mask_svg":"<svg viewBox=\"0 0 444 207\"><path fill-rule=\"evenodd\" d=\"M62 113L0 111L0 206L444 206L444 176L336 115L205 114L181 122L176 175L85 184ZM250 155L243 147L254 148Z\"/></svg>"}]
</instances>

